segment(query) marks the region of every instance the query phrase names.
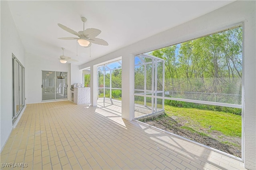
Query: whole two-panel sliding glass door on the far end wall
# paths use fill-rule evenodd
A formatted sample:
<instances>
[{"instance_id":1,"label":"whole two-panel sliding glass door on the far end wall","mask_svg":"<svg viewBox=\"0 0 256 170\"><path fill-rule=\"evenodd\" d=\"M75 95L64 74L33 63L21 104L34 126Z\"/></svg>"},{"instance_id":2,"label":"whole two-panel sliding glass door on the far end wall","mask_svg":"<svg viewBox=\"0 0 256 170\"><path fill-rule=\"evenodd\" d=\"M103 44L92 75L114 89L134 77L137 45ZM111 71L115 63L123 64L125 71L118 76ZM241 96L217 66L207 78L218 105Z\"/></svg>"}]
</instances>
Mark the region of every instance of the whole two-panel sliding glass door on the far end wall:
<instances>
[{"instance_id":1,"label":"whole two-panel sliding glass door on the far end wall","mask_svg":"<svg viewBox=\"0 0 256 170\"><path fill-rule=\"evenodd\" d=\"M42 71L42 101L68 98L68 72Z\"/></svg>"}]
</instances>

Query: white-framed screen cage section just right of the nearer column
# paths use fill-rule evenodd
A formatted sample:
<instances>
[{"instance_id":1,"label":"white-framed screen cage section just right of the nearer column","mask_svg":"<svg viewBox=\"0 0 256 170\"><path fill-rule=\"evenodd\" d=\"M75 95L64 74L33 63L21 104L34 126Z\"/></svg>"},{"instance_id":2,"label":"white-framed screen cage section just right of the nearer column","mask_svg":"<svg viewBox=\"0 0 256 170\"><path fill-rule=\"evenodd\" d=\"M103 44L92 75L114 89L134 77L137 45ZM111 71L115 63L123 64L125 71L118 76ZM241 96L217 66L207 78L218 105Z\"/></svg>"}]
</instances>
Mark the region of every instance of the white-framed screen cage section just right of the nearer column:
<instances>
[{"instance_id":1,"label":"white-framed screen cage section just right of the nearer column","mask_svg":"<svg viewBox=\"0 0 256 170\"><path fill-rule=\"evenodd\" d=\"M164 110L164 60L152 55L134 57L135 118Z\"/></svg>"}]
</instances>

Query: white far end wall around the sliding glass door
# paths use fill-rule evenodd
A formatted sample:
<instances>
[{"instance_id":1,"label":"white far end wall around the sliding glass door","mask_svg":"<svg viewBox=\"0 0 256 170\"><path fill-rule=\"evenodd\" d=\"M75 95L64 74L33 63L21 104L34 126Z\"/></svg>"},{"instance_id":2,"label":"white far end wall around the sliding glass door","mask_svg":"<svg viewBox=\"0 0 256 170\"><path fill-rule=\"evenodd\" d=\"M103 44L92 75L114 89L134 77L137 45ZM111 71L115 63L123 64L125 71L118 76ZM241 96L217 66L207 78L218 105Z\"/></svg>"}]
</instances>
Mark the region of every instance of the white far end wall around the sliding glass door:
<instances>
[{"instance_id":1,"label":"white far end wall around the sliding glass door","mask_svg":"<svg viewBox=\"0 0 256 170\"><path fill-rule=\"evenodd\" d=\"M26 68L25 68L26 103L42 102L42 88L41 88L42 71L65 71L65 72L68 72L68 74L70 75L69 65L70 65L69 63L66 63L66 64L60 63L58 59L48 60L38 55L26 53ZM68 85L68 87L70 87L70 84Z\"/></svg>"}]
</instances>

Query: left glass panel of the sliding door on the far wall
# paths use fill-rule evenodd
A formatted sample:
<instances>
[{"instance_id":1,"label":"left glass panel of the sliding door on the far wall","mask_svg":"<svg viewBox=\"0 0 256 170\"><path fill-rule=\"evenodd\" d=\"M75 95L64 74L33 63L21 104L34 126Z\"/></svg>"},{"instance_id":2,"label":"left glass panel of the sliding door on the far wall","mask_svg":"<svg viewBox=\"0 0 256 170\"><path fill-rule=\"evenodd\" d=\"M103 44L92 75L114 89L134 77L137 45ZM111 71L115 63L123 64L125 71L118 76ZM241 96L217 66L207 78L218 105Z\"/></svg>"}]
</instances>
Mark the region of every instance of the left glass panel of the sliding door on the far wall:
<instances>
[{"instance_id":1,"label":"left glass panel of the sliding door on the far wall","mask_svg":"<svg viewBox=\"0 0 256 170\"><path fill-rule=\"evenodd\" d=\"M42 100L55 100L54 71L42 71Z\"/></svg>"}]
</instances>

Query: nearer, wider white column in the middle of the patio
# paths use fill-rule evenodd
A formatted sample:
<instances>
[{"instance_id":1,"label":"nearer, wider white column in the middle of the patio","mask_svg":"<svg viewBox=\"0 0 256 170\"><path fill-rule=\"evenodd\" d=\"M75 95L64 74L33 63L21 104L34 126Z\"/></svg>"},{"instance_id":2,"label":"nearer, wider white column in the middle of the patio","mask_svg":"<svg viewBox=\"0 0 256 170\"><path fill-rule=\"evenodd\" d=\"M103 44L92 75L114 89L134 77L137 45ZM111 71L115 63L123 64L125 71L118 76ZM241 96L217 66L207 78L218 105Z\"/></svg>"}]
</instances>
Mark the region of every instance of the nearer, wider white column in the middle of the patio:
<instances>
[{"instance_id":1,"label":"nearer, wider white column in the middle of the patio","mask_svg":"<svg viewBox=\"0 0 256 170\"><path fill-rule=\"evenodd\" d=\"M122 56L122 118L134 119L134 55Z\"/></svg>"}]
</instances>

